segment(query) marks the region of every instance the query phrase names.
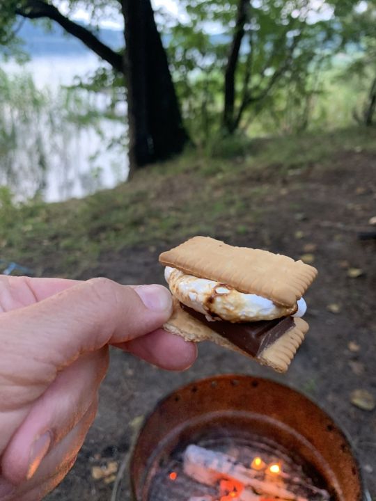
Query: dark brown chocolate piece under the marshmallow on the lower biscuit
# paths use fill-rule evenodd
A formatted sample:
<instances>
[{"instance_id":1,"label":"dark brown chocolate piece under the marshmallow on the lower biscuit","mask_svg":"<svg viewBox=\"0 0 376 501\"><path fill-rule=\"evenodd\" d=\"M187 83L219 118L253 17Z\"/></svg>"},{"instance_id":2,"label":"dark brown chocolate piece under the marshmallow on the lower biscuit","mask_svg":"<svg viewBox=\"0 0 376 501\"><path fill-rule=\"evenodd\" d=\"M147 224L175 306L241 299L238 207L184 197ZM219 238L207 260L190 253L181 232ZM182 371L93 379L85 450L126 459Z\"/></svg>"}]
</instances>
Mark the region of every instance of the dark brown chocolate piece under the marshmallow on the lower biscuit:
<instances>
[{"instance_id":1,"label":"dark brown chocolate piece under the marshmallow on the lower biscuit","mask_svg":"<svg viewBox=\"0 0 376 501\"><path fill-rule=\"evenodd\" d=\"M233 324L229 321L208 321L205 315L182 303L180 308L253 357L260 355L279 337L295 327L292 317Z\"/></svg>"}]
</instances>

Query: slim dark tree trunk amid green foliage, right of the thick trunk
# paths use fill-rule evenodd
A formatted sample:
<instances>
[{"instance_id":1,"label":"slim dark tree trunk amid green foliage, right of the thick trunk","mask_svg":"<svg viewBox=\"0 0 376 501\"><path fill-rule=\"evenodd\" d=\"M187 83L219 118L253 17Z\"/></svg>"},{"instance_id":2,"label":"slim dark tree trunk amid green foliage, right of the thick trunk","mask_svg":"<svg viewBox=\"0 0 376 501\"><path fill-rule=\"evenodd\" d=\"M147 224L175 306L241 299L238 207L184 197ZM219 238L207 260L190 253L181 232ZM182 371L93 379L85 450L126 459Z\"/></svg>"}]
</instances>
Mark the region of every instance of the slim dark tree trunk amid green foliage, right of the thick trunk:
<instances>
[{"instance_id":1,"label":"slim dark tree trunk amid green foliage, right of the thick trunk","mask_svg":"<svg viewBox=\"0 0 376 501\"><path fill-rule=\"evenodd\" d=\"M249 0L239 0L233 41L230 45L230 52L228 54L228 61L226 65L223 124L224 129L228 134L232 134L235 130L235 74L237 63L239 61L240 47L244 37L244 26L247 20L248 8Z\"/></svg>"}]
</instances>

